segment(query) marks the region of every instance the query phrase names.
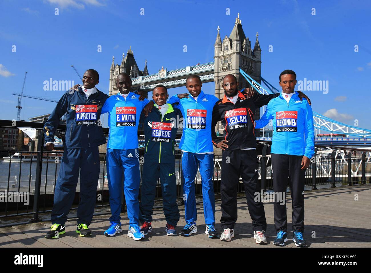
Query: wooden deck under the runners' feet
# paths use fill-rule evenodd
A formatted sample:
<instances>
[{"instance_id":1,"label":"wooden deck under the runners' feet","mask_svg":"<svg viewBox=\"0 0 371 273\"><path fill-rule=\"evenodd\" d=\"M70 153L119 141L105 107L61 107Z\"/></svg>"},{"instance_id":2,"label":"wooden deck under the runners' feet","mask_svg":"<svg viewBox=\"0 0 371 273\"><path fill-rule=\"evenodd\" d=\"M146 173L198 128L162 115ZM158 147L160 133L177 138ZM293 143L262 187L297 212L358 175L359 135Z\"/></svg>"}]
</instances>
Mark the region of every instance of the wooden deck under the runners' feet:
<instances>
[{"instance_id":1,"label":"wooden deck under the runners' feet","mask_svg":"<svg viewBox=\"0 0 371 273\"><path fill-rule=\"evenodd\" d=\"M355 195L358 201L355 201ZM287 215L288 238L286 247L295 247L292 242L290 215L291 200L288 203ZM266 245L255 243L251 230L251 218L246 200L238 200L239 215L234 228L235 237L230 242L213 240L205 232L202 205L198 208L198 233L190 237L180 235L170 237L164 233L166 224L164 213L154 211L153 231L142 241L134 241L127 236L128 218L122 214L123 233L115 237L105 237L103 232L109 225L109 215L93 218L89 228L92 237L82 238L75 233L76 220L66 222L66 234L57 240L44 238L51 225L50 222L16 225L0 228L0 247L276 247L272 241L275 237L273 224L273 204L266 203L267 218ZM180 208L180 221L177 232L185 224L184 207ZM323 189L305 193L305 231L304 238L310 247L371 247L371 185ZM216 228L220 227L220 201L216 202Z\"/></svg>"}]
</instances>

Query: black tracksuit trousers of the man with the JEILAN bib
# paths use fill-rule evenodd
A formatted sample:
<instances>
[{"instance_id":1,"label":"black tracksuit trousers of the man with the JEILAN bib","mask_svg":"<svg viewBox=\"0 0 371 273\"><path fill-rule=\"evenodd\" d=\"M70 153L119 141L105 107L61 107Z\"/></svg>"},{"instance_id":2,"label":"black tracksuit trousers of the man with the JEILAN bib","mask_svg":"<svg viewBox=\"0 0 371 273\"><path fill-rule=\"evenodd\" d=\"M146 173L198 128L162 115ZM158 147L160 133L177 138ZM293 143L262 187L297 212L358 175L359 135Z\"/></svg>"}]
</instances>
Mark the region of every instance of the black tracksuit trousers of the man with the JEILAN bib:
<instances>
[{"instance_id":1,"label":"black tracksuit trousers of the man with the JEILAN bib","mask_svg":"<svg viewBox=\"0 0 371 273\"><path fill-rule=\"evenodd\" d=\"M223 151L221 157L221 227L223 230L234 228L237 221L237 188L241 175L249 214L253 220L253 231L266 230L267 221L263 203L254 200L255 193L260 194L256 150Z\"/></svg>"}]
</instances>

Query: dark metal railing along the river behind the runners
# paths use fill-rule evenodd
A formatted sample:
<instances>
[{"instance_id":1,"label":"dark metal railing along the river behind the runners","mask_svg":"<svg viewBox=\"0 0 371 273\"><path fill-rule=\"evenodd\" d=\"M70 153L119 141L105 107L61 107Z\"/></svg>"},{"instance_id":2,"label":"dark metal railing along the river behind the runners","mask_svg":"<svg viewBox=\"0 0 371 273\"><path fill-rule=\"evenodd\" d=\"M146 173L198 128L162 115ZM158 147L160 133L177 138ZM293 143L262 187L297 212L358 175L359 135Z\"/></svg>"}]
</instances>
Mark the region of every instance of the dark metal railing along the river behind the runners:
<instances>
[{"instance_id":1,"label":"dark metal railing along the river behind the runners","mask_svg":"<svg viewBox=\"0 0 371 273\"><path fill-rule=\"evenodd\" d=\"M28 124L30 126L30 124ZM19 125L20 126L20 125ZM0 122L1 128L1 122ZM37 127L36 127L37 128ZM143 134L143 132L138 132ZM42 138L43 135L41 134ZM43 143L41 139L40 143ZM259 144L261 155L257 160L259 163L259 181L261 188L265 191L273 190L272 168L270 162L270 145ZM40 221L40 213L49 213L52 209L55 185L58 180L60 167L60 155L63 151L46 152L43 145L40 145L38 152L20 151L17 158L14 157L15 151L0 151L2 155L12 155L8 159L0 161L0 220L22 215L32 215L30 220ZM325 187L337 187L343 185L358 185L370 183L371 178L371 160L370 152L363 152L361 155L353 156L353 150L343 153L339 149L333 149L332 152L318 153L312 158L309 168L305 174L305 189L318 189ZM25 159L27 155L27 159ZM36 156L36 159L35 157ZM100 153L100 175L97 187L96 212L110 213L108 181L106 174L106 154ZM142 177L144 149L139 150L140 172ZM181 167L181 151L175 150L175 177L177 183L178 204L183 203L183 177ZM220 199L220 181L221 181L221 156L214 156L213 183L216 199ZM75 199L71 210L78 207L80 183L78 180L76 186ZM202 202L202 178L200 172L197 172L195 178L196 200ZM237 192L244 192L244 185L240 178ZM16 200L20 193L29 195L29 202ZM9 196L13 195L13 200ZM122 193L124 197L124 194ZM7 200L6 200L7 198ZM139 191L139 201L141 192ZM158 179L155 195L155 206L162 206L161 181ZM122 198L122 211L125 211L125 199ZM17 220L17 219L15 219ZM19 219L18 219L19 220ZM0 223L1 225L1 223Z\"/></svg>"}]
</instances>

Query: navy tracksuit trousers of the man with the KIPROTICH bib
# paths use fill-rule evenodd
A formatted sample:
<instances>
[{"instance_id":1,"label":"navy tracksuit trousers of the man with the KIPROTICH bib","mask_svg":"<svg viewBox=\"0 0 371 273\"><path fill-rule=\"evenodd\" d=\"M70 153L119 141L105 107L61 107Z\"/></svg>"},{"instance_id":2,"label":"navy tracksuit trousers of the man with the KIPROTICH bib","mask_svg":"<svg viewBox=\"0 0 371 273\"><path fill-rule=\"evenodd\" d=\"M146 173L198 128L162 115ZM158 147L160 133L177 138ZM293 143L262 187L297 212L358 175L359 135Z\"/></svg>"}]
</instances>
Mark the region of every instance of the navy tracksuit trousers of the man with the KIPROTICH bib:
<instances>
[{"instance_id":1,"label":"navy tracksuit trousers of the man with the KIPROTICH bib","mask_svg":"<svg viewBox=\"0 0 371 273\"><path fill-rule=\"evenodd\" d=\"M64 225L75 198L80 171L80 202L77 223L89 225L93 218L96 188L99 179L98 146L66 149L62 156L59 175L55 184L52 224Z\"/></svg>"}]
</instances>

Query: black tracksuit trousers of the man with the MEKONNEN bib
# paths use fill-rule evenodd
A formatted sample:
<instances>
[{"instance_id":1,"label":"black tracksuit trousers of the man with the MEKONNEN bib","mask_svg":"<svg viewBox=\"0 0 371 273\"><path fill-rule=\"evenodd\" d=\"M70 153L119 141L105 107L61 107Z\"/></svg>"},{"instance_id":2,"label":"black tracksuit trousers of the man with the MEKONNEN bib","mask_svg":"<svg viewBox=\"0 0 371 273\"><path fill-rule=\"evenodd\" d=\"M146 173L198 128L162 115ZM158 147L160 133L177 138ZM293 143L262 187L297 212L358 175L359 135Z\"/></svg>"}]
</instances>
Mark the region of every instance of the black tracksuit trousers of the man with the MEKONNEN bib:
<instances>
[{"instance_id":1,"label":"black tracksuit trousers of the man with the MEKONNEN bib","mask_svg":"<svg viewBox=\"0 0 371 273\"><path fill-rule=\"evenodd\" d=\"M290 183L292 199L292 230L304 231L304 180L305 170L301 169L303 156L280 155L272 153L273 191L283 193ZM286 202L274 202L276 231L287 231Z\"/></svg>"}]
</instances>

